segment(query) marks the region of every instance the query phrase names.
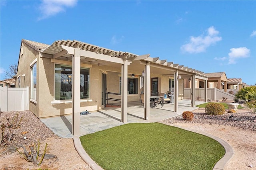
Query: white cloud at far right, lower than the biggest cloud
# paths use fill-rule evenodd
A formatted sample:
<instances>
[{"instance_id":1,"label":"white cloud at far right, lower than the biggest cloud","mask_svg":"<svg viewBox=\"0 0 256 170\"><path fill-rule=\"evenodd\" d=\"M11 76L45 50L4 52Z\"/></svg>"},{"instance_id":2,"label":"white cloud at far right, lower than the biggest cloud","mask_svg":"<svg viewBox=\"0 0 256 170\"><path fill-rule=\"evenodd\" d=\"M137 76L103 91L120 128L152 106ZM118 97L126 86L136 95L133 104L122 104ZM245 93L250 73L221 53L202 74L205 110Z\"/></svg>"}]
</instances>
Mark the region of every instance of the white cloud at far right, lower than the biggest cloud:
<instances>
[{"instance_id":1,"label":"white cloud at far right, lower than the biggest cloud","mask_svg":"<svg viewBox=\"0 0 256 170\"><path fill-rule=\"evenodd\" d=\"M239 58L246 58L250 55L250 49L246 47L240 47L240 48L232 48L230 49L230 53L228 53L229 61L228 64L235 64L236 59Z\"/></svg>"}]
</instances>

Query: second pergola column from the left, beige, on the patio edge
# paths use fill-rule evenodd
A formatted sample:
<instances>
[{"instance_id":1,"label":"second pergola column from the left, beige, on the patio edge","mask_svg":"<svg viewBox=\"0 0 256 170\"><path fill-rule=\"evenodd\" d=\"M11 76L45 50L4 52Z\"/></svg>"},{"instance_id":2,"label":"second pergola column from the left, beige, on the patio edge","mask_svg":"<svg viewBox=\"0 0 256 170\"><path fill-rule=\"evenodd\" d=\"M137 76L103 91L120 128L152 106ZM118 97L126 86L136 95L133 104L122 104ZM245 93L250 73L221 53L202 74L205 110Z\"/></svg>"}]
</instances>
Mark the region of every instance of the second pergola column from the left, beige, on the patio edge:
<instances>
[{"instance_id":1,"label":"second pergola column from the left, beige, on the patio edge","mask_svg":"<svg viewBox=\"0 0 256 170\"><path fill-rule=\"evenodd\" d=\"M122 65L122 101L121 101L121 121L123 123L127 122L127 91L128 91L128 61L124 59L124 64Z\"/></svg>"}]
</instances>

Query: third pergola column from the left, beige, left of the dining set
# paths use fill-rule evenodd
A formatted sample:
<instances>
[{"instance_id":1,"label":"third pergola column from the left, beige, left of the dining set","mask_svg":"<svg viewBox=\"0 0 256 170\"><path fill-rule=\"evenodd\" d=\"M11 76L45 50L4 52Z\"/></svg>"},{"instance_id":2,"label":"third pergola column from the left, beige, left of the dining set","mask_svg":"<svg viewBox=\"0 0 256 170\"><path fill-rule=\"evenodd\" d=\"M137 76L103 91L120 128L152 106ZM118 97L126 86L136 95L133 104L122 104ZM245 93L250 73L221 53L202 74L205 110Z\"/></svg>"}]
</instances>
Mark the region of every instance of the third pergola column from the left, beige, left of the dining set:
<instances>
[{"instance_id":1,"label":"third pergola column from the left, beige, left of the dining set","mask_svg":"<svg viewBox=\"0 0 256 170\"><path fill-rule=\"evenodd\" d=\"M150 62L145 66L144 80L144 119L150 119Z\"/></svg>"}]
</instances>

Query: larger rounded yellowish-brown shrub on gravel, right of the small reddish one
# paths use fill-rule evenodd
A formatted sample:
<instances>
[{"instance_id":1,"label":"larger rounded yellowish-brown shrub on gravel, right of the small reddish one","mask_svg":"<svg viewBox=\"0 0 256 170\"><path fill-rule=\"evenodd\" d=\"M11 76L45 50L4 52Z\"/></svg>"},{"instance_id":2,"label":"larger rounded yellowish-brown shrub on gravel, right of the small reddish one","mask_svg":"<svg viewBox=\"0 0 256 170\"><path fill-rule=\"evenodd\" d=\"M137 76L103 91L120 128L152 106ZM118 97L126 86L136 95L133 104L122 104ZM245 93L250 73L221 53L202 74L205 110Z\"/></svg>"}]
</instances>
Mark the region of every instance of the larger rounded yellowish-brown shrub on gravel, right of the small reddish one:
<instances>
[{"instance_id":1,"label":"larger rounded yellowish-brown shrub on gravel, right of the small reddish one","mask_svg":"<svg viewBox=\"0 0 256 170\"><path fill-rule=\"evenodd\" d=\"M205 113L207 115L223 115L225 113L225 107L219 103L208 103L205 106Z\"/></svg>"}]
</instances>

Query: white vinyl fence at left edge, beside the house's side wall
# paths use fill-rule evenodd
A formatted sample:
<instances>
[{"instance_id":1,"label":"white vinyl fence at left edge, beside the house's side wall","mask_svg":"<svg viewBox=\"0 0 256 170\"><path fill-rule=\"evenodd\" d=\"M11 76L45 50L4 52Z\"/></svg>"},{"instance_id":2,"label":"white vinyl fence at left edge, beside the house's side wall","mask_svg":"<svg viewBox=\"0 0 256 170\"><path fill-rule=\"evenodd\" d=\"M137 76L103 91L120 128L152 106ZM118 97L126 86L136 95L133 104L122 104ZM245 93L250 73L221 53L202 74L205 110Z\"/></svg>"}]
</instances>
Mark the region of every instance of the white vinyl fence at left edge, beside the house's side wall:
<instances>
[{"instance_id":1,"label":"white vinyl fence at left edge, beside the house's side wall","mask_svg":"<svg viewBox=\"0 0 256 170\"><path fill-rule=\"evenodd\" d=\"M29 87L0 87L0 111L21 111L29 109Z\"/></svg>"}]
</instances>

